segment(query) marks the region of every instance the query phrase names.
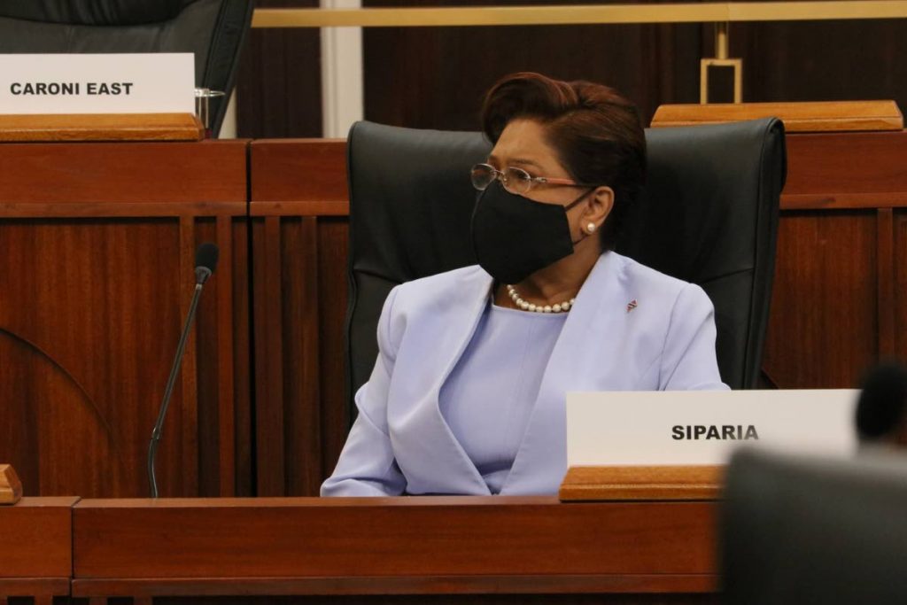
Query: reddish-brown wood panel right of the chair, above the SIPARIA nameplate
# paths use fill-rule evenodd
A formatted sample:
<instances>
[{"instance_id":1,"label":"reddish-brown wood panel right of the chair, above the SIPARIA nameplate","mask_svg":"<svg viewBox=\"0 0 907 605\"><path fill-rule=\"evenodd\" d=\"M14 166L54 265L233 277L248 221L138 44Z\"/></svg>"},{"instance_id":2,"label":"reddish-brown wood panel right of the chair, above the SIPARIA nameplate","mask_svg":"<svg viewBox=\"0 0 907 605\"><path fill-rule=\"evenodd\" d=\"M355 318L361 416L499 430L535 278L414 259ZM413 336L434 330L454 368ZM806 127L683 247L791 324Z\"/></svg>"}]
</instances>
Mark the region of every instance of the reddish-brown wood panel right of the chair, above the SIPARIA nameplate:
<instances>
[{"instance_id":1,"label":"reddish-brown wood panel right of the chair, above the SIPARIA nameplate","mask_svg":"<svg viewBox=\"0 0 907 605\"><path fill-rule=\"evenodd\" d=\"M783 388L856 386L878 354L872 210L785 211L764 369Z\"/></svg>"}]
</instances>

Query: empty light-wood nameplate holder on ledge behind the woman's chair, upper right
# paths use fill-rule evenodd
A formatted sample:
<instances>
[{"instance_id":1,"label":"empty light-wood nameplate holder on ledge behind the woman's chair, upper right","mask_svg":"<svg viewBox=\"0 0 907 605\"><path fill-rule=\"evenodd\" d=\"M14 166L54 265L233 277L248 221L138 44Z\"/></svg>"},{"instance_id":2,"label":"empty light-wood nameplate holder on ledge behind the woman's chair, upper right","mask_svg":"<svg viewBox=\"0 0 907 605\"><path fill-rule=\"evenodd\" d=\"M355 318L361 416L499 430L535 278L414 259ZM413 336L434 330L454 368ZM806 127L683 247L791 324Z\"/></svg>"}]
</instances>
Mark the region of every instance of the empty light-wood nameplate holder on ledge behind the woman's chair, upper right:
<instances>
[{"instance_id":1,"label":"empty light-wood nameplate holder on ledge behind the woman's chair, upper right","mask_svg":"<svg viewBox=\"0 0 907 605\"><path fill-rule=\"evenodd\" d=\"M661 105L652 128L696 126L777 117L787 132L901 131L893 101L743 102Z\"/></svg>"}]
</instances>

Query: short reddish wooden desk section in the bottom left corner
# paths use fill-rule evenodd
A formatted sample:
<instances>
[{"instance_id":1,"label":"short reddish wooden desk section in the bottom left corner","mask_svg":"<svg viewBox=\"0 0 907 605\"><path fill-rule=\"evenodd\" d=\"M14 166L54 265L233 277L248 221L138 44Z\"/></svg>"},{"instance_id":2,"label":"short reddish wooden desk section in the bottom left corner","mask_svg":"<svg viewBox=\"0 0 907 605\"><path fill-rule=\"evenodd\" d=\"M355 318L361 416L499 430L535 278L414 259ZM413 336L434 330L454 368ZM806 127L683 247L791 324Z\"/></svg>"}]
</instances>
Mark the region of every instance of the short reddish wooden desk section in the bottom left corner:
<instances>
[{"instance_id":1,"label":"short reddish wooden desk section in the bottom left corner","mask_svg":"<svg viewBox=\"0 0 907 605\"><path fill-rule=\"evenodd\" d=\"M73 573L73 504L78 498L23 498L0 506L0 603L66 596Z\"/></svg>"}]
</instances>

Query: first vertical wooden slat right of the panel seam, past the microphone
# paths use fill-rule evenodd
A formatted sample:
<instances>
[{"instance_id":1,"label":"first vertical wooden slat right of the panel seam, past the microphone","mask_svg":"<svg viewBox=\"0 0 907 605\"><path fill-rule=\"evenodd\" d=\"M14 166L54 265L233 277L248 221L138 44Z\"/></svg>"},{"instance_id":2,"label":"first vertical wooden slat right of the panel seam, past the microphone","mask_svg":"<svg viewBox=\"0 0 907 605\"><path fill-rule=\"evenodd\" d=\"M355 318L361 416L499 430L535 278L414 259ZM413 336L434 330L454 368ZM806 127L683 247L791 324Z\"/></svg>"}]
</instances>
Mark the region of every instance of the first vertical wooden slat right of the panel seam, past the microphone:
<instances>
[{"instance_id":1,"label":"first vertical wooden slat right of the panel seam, past the microphone","mask_svg":"<svg viewBox=\"0 0 907 605\"><path fill-rule=\"evenodd\" d=\"M266 217L253 238L255 291L256 464L259 496L286 494L280 219Z\"/></svg>"}]
</instances>

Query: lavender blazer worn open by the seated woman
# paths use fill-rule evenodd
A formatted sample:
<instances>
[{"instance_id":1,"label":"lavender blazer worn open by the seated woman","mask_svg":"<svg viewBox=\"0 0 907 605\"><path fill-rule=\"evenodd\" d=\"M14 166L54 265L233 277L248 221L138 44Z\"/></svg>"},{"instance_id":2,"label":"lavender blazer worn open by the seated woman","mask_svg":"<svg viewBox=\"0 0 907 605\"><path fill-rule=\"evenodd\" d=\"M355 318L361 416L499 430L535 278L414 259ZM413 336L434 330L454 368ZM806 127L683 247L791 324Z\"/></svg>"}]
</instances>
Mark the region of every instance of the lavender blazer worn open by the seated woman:
<instances>
[{"instance_id":1,"label":"lavender blazer worn open by the seated woman","mask_svg":"<svg viewBox=\"0 0 907 605\"><path fill-rule=\"evenodd\" d=\"M489 495L438 407L473 337L493 278L460 268L394 288L378 358L323 496ZM564 323L502 494L552 494L567 470L567 391L727 389L711 301L696 285L615 252L592 268ZM494 367L488 367L494 372Z\"/></svg>"}]
</instances>

